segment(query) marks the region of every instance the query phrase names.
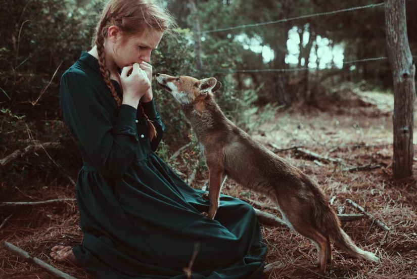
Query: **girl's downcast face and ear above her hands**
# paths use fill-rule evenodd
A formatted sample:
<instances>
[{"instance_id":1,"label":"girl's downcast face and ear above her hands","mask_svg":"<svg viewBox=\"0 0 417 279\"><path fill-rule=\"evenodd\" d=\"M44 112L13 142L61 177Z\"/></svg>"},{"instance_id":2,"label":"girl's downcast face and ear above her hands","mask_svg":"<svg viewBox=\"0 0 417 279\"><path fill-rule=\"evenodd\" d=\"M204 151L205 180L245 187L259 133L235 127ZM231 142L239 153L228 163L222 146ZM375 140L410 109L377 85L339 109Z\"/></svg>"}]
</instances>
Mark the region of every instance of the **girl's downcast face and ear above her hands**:
<instances>
[{"instance_id":1,"label":"girl's downcast face and ear above her hands","mask_svg":"<svg viewBox=\"0 0 417 279\"><path fill-rule=\"evenodd\" d=\"M120 31L116 33L111 31L113 30L109 29L111 39L109 58L112 61L109 62L120 69L134 63L150 62L151 52L157 48L163 35L163 31L150 31L142 36L131 36L122 41Z\"/></svg>"}]
</instances>

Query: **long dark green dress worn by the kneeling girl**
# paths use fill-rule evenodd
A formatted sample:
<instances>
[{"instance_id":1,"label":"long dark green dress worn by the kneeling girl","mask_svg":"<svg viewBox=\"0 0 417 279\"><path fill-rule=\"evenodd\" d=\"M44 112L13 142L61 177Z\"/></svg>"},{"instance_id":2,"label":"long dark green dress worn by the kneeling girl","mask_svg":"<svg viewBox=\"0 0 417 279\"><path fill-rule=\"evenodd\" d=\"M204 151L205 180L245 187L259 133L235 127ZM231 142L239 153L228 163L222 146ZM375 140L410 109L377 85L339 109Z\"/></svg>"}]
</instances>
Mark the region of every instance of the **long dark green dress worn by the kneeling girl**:
<instances>
[{"instance_id":1,"label":"long dark green dress worn by the kneeling girl","mask_svg":"<svg viewBox=\"0 0 417 279\"><path fill-rule=\"evenodd\" d=\"M120 86L113 81L120 94ZM82 245L73 251L99 279L260 278L266 246L254 210L220 198L215 220L202 191L192 189L155 153L164 130L154 102L143 104L158 138L131 106L116 109L96 58L83 52L62 76L65 122L83 159L77 178Z\"/></svg>"}]
</instances>

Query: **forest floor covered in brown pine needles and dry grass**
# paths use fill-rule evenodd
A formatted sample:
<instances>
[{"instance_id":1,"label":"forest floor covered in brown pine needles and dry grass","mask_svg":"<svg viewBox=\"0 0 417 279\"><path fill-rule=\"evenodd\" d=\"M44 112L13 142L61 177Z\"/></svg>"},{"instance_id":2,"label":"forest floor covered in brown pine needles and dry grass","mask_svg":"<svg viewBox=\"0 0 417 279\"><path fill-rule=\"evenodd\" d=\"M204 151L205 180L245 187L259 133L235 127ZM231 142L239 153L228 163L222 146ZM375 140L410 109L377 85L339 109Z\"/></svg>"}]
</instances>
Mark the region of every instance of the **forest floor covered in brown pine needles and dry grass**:
<instances>
[{"instance_id":1,"label":"forest floor covered in brown pine needles and dry grass","mask_svg":"<svg viewBox=\"0 0 417 279\"><path fill-rule=\"evenodd\" d=\"M392 179L392 95L352 90L342 94L339 101L323 99L318 104L319 108L300 105L278 111L272 121L259 126L253 137L315 179L338 214L363 213L348 199L372 214L376 219L365 216L342 222L342 227L360 248L376 253L380 261L354 259L334 247L334 261L327 274L320 275L316 273L316 249L309 240L285 225L261 223L268 246L266 264L280 262L262 278L416 278L417 186L415 180L400 183ZM364 169L349 170L357 166ZM417 177L415 163L413 173ZM201 188L205 181L205 175L199 174L193 187ZM71 184L26 181L16 189L5 201L74 198ZM254 201L255 208L269 205L262 210L280 217L264 196L242 189L233 181L226 181L223 193ZM49 257L54 245L82 241L76 203L67 201L64 205L2 209L0 224L13 215L0 226L0 239L76 278L91 278L81 268L56 263ZM54 276L0 248L0 278Z\"/></svg>"}]
</instances>

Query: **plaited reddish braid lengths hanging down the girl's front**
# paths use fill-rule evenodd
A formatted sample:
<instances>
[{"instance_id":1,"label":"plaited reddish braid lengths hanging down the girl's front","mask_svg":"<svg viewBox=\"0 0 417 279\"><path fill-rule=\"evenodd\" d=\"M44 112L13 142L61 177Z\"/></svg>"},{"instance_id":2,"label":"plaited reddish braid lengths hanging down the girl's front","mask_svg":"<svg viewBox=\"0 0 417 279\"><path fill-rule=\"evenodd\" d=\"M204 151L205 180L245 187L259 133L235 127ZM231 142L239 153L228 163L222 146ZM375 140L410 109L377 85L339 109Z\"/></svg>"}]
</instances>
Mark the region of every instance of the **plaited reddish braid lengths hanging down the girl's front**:
<instances>
[{"instance_id":1,"label":"plaited reddish braid lengths hanging down the girl's front","mask_svg":"<svg viewBox=\"0 0 417 279\"><path fill-rule=\"evenodd\" d=\"M97 38L96 38L96 45L97 45L97 53L99 56L99 65L100 65L100 71L103 76L103 80L106 83L107 88L109 88L113 99L116 101L117 108L120 109L121 101L119 96L117 96L116 89L113 86L113 83L110 80L109 71L106 67L106 57L104 53L104 35L103 35L103 27L106 25L106 20L103 20L97 30ZM141 107L142 115L145 117L145 119L148 121L148 132L149 137L151 138L151 141L157 136L156 128L152 121L149 119L148 115L146 115L144 108L142 107L142 104L140 103L139 106Z\"/></svg>"}]
</instances>

